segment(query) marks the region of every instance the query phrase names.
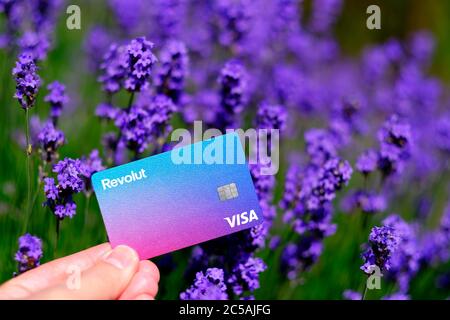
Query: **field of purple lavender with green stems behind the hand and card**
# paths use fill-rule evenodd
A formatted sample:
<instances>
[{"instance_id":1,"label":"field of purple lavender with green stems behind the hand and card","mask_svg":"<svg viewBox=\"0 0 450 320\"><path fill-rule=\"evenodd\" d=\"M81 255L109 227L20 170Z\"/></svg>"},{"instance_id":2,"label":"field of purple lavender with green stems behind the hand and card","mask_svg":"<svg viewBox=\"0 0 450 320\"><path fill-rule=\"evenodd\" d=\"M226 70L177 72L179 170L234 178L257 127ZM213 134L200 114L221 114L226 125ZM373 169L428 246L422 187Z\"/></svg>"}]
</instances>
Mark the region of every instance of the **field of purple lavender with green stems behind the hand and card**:
<instances>
[{"instance_id":1,"label":"field of purple lavender with green stems behind the hand and card","mask_svg":"<svg viewBox=\"0 0 450 320\"><path fill-rule=\"evenodd\" d=\"M70 4L0 0L0 283L107 241L90 176L201 120L279 129L280 170L261 227L154 260L159 299L450 297L450 2Z\"/></svg>"}]
</instances>

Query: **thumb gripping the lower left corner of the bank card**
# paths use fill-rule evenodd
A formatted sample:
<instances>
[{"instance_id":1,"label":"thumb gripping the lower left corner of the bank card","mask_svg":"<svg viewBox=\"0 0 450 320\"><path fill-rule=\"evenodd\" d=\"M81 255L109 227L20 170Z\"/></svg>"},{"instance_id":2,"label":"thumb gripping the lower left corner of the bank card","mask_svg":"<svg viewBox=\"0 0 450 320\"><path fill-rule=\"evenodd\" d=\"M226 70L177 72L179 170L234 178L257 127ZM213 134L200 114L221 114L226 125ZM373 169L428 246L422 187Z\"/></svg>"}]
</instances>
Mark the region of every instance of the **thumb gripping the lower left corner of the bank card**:
<instances>
[{"instance_id":1,"label":"thumb gripping the lower left corner of the bank card","mask_svg":"<svg viewBox=\"0 0 450 320\"><path fill-rule=\"evenodd\" d=\"M84 271L75 288L68 285L68 282L64 282L36 293L30 299L118 299L138 268L137 253L129 247L117 246L106 253L93 267Z\"/></svg>"}]
</instances>

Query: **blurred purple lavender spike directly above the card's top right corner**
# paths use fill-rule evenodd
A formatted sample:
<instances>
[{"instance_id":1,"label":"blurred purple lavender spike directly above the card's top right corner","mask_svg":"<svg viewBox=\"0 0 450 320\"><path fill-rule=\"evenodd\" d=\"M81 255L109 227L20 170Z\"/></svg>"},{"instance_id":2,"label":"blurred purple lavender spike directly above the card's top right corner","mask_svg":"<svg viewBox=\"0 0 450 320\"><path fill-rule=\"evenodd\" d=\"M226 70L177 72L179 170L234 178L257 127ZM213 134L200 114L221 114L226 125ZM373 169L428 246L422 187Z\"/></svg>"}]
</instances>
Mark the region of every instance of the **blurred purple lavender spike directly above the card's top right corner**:
<instances>
[{"instance_id":1,"label":"blurred purple lavender spike directly above the card's top right corner","mask_svg":"<svg viewBox=\"0 0 450 320\"><path fill-rule=\"evenodd\" d=\"M221 70L220 77L220 110L216 114L215 126L225 130L237 125L237 116L246 103L247 74L244 67L229 61Z\"/></svg>"}]
</instances>

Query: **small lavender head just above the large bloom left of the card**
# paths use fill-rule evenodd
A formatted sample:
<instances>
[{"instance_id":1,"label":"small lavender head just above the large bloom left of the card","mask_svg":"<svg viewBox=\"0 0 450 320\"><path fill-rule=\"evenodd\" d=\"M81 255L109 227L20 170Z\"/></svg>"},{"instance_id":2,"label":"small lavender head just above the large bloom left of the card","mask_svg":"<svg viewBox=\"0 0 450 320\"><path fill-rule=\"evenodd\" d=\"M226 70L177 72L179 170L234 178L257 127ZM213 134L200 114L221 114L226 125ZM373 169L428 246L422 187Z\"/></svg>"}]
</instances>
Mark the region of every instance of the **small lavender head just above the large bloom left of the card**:
<instances>
[{"instance_id":1,"label":"small lavender head just above the large bloom left of the card","mask_svg":"<svg viewBox=\"0 0 450 320\"><path fill-rule=\"evenodd\" d=\"M64 133L48 121L38 134L38 143L43 160L51 163L57 159L57 150L64 145L64 142Z\"/></svg>"}]
</instances>

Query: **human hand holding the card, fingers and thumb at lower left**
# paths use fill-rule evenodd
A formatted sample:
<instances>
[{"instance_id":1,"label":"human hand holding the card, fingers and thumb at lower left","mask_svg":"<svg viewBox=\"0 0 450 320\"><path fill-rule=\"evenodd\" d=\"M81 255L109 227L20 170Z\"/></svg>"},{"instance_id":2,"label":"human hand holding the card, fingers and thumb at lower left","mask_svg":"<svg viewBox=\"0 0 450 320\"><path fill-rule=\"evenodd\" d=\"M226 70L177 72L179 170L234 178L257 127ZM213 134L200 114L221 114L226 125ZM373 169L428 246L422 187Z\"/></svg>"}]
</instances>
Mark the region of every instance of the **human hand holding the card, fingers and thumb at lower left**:
<instances>
[{"instance_id":1,"label":"human hand holding the card, fingers and thumb at lower left","mask_svg":"<svg viewBox=\"0 0 450 320\"><path fill-rule=\"evenodd\" d=\"M80 271L80 286L68 285L70 271ZM0 299L153 300L159 271L126 246L109 243L75 253L27 271L0 286Z\"/></svg>"}]
</instances>

